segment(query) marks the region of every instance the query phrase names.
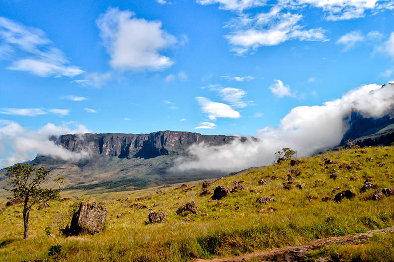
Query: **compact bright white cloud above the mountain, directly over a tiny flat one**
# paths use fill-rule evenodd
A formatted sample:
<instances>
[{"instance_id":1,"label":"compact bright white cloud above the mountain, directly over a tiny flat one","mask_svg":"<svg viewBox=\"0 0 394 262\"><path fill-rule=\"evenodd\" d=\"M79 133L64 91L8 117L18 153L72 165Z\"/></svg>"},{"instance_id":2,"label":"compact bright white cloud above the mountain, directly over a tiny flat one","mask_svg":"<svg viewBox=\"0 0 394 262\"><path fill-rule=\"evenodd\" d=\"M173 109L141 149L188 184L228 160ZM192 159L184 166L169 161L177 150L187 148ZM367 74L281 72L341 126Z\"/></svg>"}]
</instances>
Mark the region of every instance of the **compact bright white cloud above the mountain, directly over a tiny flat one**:
<instances>
[{"instance_id":1,"label":"compact bright white cloud above the mountain, directly over a tiny flat one","mask_svg":"<svg viewBox=\"0 0 394 262\"><path fill-rule=\"evenodd\" d=\"M217 118L240 118L241 115L232 109L229 105L213 102L208 98L198 96L196 97L198 104L201 106L201 111L206 113L209 120L215 121Z\"/></svg>"}]
</instances>

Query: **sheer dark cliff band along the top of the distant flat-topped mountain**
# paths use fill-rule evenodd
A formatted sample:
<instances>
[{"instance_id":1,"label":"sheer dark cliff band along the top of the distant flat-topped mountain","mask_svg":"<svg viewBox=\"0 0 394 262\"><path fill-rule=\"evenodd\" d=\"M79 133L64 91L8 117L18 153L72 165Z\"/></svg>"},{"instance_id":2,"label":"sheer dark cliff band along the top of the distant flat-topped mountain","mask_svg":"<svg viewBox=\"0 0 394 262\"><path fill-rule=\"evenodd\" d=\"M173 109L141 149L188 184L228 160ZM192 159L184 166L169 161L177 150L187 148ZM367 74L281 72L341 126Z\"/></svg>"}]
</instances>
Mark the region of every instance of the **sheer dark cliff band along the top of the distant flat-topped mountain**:
<instances>
[{"instance_id":1,"label":"sheer dark cliff band along the top of the distant flat-topped mountain","mask_svg":"<svg viewBox=\"0 0 394 262\"><path fill-rule=\"evenodd\" d=\"M192 132L159 131L149 134L85 133L52 136L51 140L73 151L92 151L119 158L154 158L160 155L183 154L196 143L226 144L236 136L203 135Z\"/></svg>"}]
</instances>

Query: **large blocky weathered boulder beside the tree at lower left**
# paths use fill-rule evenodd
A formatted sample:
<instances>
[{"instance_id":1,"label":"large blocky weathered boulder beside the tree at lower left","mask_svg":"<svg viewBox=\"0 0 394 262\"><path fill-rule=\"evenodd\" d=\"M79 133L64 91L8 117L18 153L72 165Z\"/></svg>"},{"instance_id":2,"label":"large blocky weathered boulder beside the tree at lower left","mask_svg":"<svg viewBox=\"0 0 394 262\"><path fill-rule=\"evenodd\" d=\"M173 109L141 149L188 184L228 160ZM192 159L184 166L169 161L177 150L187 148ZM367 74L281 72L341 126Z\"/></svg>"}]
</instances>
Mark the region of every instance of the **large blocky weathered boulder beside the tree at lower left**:
<instances>
[{"instance_id":1,"label":"large blocky weathered boulder beside the tree at lower left","mask_svg":"<svg viewBox=\"0 0 394 262\"><path fill-rule=\"evenodd\" d=\"M70 234L78 235L83 232L99 233L104 229L107 209L97 203L81 202L77 212L73 214Z\"/></svg>"}]
</instances>

